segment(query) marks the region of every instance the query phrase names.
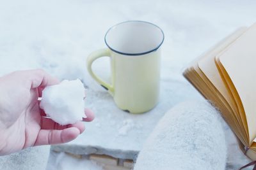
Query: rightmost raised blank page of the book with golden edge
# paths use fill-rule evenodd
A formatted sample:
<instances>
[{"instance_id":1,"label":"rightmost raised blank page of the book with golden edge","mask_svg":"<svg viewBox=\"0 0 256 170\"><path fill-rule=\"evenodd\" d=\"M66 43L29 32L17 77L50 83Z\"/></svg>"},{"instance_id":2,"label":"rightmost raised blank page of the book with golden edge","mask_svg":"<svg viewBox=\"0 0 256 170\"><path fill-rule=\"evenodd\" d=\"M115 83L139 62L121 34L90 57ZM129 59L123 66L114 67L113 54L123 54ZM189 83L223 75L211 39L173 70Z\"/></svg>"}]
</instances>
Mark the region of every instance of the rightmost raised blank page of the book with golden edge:
<instances>
[{"instance_id":1,"label":"rightmost raised blank page of the book with golden edge","mask_svg":"<svg viewBox=\"0 0 256 170\"><path fill-rule=\"evenodd\" d=\"M256 137L256 24L220 56L220 67L241 113L246 115L249 141Z\"/></svg>"}]
</instances>

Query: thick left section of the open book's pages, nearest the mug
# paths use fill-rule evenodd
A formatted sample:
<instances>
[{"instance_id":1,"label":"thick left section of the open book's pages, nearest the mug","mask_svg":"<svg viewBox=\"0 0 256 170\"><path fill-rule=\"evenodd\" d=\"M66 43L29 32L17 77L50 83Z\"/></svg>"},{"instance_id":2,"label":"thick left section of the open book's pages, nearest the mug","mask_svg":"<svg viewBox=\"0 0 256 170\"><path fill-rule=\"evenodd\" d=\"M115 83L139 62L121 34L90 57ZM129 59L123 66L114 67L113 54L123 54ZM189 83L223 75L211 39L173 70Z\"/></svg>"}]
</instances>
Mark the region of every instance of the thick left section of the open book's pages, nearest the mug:
<instances>
[{"instance_id":1,"label":"thick left section of the open book's pages, nearest the mug","mask_svg":"<svg viewBox=\"0 0 256 170\"><path fill-rule=\"evenodd\" d=\"M230 106L231 104L227 102L227 97L225 99L220 93L220 91L227 91L227 89L221 80L214 60L218 53L222 52L228 45L236 41L245 31L246 27L242 27L221 40L210 48L210 50L207 50L207 52L193 60L183 74L206 99L209 99L216 108L221 110L223 118L225 118L228 125L230 125L232 131L236 133L237 138L239 138L243 145L248 146L248 132L246 133L239 119L239 114L237 114L237 111L234 113ZM200 65L202 66L201 68ZM223 89L220 90L220 88ZM228 97L230 97L230 94L228 94ZM234 107L234 110L236 110L236 107Z\"/></svg>"}]
</instances>

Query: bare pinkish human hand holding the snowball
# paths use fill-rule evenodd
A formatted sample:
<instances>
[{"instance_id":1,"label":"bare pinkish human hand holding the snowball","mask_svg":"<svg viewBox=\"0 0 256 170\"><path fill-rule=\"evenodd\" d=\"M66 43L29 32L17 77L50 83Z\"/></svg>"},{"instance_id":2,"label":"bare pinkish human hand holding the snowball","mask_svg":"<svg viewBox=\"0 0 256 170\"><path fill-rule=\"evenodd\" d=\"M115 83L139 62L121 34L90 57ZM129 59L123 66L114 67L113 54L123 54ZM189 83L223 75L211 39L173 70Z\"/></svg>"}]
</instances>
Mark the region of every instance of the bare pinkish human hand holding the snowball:
<instances>
[{"instance_id":1,"label":"bare pinkish human hand holding the snowball","mask_svg":"<svg viewBox=\"0 0 256 170\"><path fill-rule=\"evenodd\" d=\"M84 131L84 123L61 126L44 118L38 97L59 81L40 69L15 71L0 77L0 155L30 146L67 143ZM90 122L94 115L85 110Z\"/></svg>"}]
</instances>

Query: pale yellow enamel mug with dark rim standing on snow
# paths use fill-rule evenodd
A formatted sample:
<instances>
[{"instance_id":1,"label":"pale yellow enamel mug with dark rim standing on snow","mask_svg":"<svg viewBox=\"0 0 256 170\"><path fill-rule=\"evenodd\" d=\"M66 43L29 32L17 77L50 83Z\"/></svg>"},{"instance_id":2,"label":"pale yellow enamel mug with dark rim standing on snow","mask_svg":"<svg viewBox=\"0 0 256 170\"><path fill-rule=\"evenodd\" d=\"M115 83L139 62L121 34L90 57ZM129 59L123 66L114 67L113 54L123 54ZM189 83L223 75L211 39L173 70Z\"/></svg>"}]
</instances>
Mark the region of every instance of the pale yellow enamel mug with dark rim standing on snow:
<instances>
[{"instance_id":1,"label":"pale yellow enamel mug with dark rim standing on snow","mask_svg":"<svg viewBox=\"0 0 256 170\"><path fill-rule=\"evenodd\" d=\"M88 72L108 90L118 108L130 113L151 110L159 98L163 41L163 31L150 22L135 20L114 25L105 36L108 48L88 56ZM92 71L93 61L105 56L111 58L111 84Z\"/></svg>"}]
</instances>

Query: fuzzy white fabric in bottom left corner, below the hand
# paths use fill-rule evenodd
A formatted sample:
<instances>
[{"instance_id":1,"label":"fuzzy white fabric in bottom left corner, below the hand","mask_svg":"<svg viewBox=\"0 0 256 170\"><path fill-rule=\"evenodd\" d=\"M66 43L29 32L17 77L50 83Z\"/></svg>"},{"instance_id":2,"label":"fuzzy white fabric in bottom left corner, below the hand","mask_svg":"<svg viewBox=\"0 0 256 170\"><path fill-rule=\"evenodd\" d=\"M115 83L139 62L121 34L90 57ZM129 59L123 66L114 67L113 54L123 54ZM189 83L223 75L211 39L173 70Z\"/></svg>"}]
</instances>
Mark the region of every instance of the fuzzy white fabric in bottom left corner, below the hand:
<instances>
[{"instance_id":1,"label":"fuzzy white fabric in bottom left corner, below the hand","mask_svg":"<svg viewBox=\"0 0 256 170\"><path fill-rule=\"evenodd\" d=\"M0 156L1 170L45 170L50 146L27 148L11 155Z\"/></svg>"}]
</instances>

